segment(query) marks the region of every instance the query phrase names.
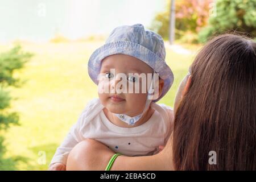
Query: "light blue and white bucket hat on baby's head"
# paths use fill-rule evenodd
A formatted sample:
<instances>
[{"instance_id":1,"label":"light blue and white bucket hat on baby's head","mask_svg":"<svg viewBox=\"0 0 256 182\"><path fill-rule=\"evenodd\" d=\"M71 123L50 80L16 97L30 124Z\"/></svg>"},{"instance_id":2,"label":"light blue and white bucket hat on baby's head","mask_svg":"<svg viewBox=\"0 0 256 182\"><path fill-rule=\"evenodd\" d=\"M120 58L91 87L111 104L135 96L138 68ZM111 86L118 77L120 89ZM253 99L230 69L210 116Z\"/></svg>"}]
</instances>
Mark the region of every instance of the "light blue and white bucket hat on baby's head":
<instances>
[{"instance_id":1,"label":"light blue and white bucket hat on baby's head","mask_svg":"<svg viewBox=\"0 0 256 182\"><path fill-rule=\"evenodd\" d=\"M162 94L154 102L159 101L171 88L174 75L165 61L166 51L163 39L155 32L145 30L142 24L115 28L104 46L92 53L88 62L88 73L95 84L98 85L101 61L107 56L118 53L136 57L159 73L164 86Z\"/></svg>"}]
</instances>

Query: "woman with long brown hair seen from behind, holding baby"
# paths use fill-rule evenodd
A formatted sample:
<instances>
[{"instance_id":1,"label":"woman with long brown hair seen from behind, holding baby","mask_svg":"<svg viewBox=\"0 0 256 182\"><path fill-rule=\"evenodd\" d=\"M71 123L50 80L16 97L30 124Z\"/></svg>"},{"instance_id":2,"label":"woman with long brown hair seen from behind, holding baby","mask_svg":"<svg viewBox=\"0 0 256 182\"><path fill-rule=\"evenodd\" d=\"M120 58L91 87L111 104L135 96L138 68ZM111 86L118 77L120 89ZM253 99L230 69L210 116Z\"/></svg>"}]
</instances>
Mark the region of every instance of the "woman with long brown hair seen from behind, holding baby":
<instances>
[{"instance_id":1,"label":"woman with long brown hair seen from behind, holding baby","mask_svg":"<svg viewBox=\"0 0 256 182\"><path fill-rule=\"evenodd\" d=\"M212 39L181 82L174 111L174 132L163 151L118 156L112 170L255 170L256 43L230 34ZM85 140L69 154L67 170L104 170L113 154Z\"/></svg>"}]
</instances>

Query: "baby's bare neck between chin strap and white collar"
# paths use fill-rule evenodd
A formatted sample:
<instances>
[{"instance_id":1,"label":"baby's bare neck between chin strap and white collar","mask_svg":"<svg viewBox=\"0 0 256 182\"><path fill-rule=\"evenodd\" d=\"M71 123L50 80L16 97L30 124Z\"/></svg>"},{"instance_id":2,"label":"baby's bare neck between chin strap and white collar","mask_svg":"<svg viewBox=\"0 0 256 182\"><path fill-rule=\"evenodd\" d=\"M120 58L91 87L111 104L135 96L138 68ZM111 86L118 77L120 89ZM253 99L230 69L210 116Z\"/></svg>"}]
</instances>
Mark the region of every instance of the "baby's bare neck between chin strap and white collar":
<instances>
[{"instance_id":1,"label":"baby's bare neck between chin strap and white collar","mask_svg":"<svg viewBox=\"0 0 256 182\"><path fill-rule=\"evenodd\" d=\"M118 117L116 117L114 113L110 113L106 108L104 108L103 111L109 121L112 122L114 125L117 125L119 127L136 127L142 125L143 123L146 123L155 110L149 107L149 109L142 115L141 119L139 119L139 121L137 121L134 125L128 125L127 123L121 121Z\"/></svg>"}]
</instances>

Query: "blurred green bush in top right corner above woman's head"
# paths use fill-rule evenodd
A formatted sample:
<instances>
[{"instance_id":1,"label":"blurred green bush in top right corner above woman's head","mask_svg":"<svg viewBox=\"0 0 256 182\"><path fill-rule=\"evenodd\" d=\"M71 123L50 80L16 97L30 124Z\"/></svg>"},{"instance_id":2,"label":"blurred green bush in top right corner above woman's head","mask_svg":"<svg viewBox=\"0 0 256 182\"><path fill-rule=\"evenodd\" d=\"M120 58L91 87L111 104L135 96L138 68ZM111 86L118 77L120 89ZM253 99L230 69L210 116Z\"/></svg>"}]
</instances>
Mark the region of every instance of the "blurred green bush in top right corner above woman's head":
<instances>
[{"instance_id":1,"label":"blurred green bush in top right corner above woman's head","mask_svg":"<svg viewBox=\"0 0 256 182\"><path fill-rule=\"evenodd\" d=\"M199 41L227 31L240 31L256 37L256 0L216 0L209 24L199 33Z\"/></svg>"}]
</instances>

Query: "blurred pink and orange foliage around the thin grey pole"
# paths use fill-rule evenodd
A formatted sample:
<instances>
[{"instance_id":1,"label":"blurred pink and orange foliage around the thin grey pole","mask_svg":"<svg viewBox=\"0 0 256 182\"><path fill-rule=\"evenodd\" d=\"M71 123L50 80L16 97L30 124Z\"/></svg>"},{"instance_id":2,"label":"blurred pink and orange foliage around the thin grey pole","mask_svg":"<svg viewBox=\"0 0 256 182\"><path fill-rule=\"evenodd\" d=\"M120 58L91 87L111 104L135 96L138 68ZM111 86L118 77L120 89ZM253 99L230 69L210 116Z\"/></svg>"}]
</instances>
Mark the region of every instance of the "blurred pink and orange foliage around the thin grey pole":
<instances>
[{"instance_id":1,"label":"blurred pink and orange foliage around the thin grey pole","mask_svg":"<svg viewBox=\"0 0 256 182\"><path fill-rule=\"evenodd\" d=\"M179 0L175 1L176 22L175 37L186 42L194 42L197 33L207 24L210 5L213 0ZM167 0L166 11L155 16L151 29L168 39L170 19L170 0ZM189 40L191 39L191 40Z\"/></svg>"}]
</instances>

